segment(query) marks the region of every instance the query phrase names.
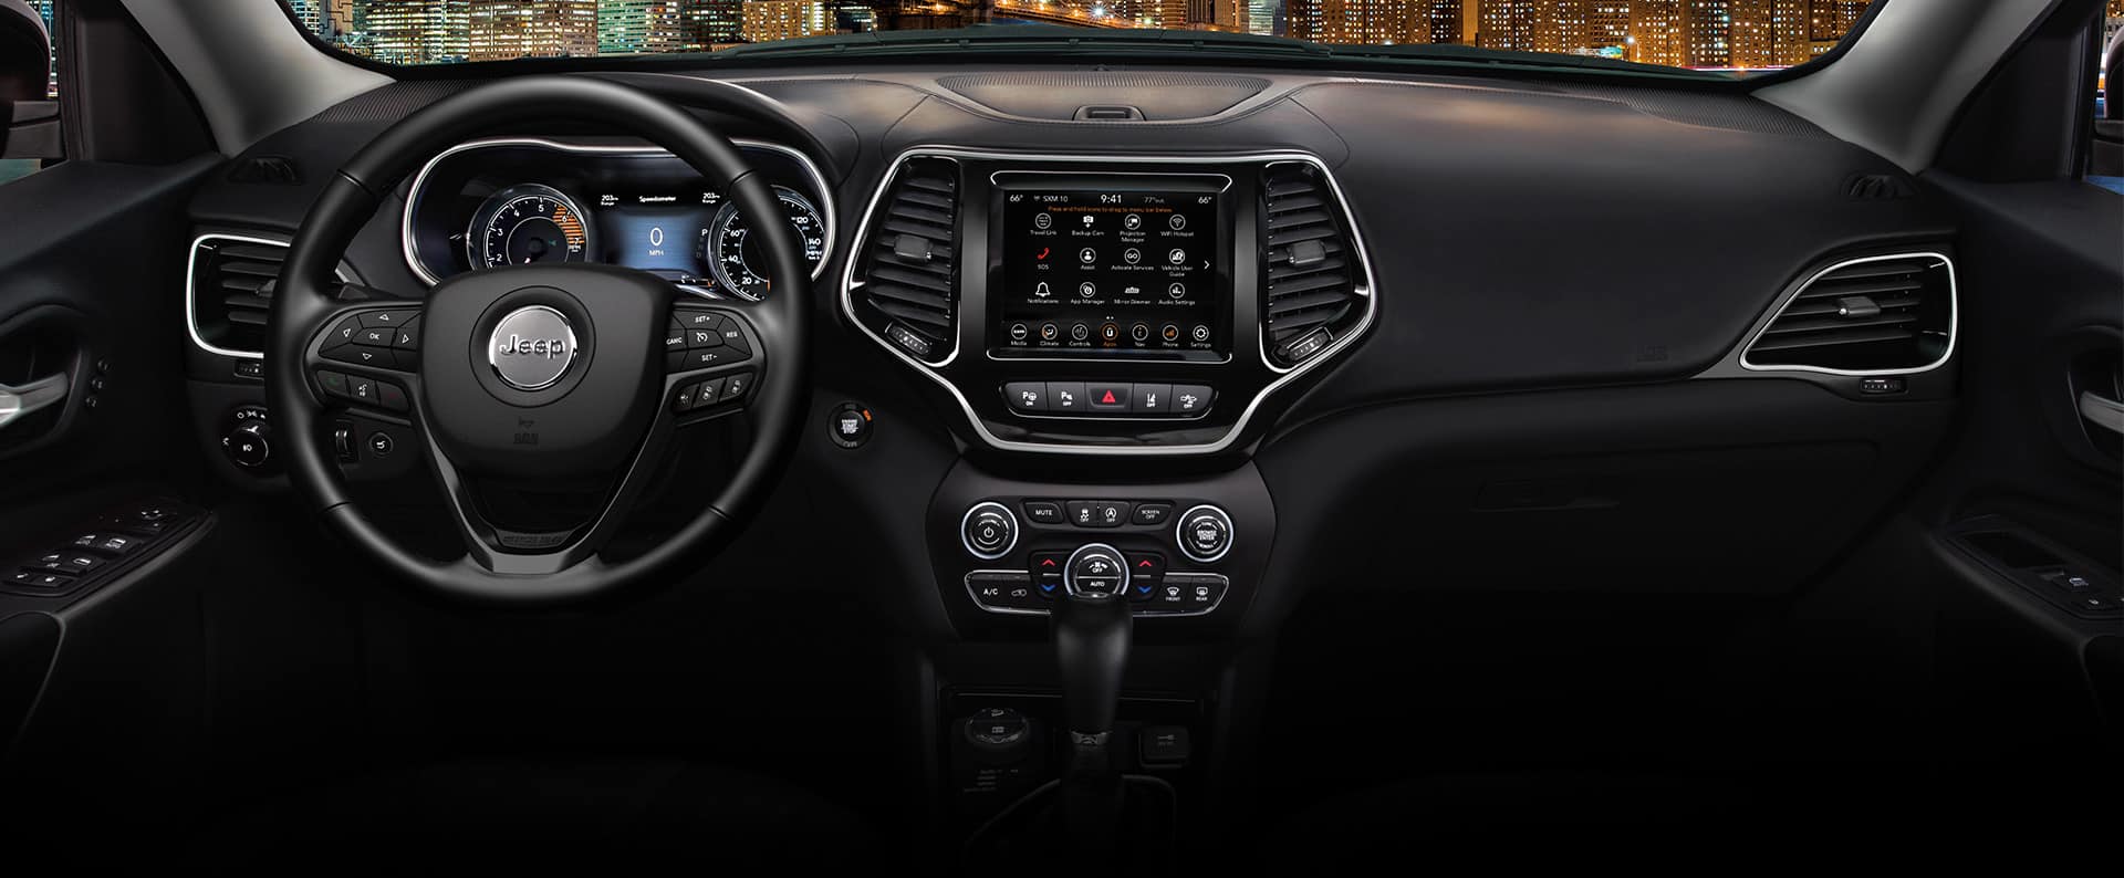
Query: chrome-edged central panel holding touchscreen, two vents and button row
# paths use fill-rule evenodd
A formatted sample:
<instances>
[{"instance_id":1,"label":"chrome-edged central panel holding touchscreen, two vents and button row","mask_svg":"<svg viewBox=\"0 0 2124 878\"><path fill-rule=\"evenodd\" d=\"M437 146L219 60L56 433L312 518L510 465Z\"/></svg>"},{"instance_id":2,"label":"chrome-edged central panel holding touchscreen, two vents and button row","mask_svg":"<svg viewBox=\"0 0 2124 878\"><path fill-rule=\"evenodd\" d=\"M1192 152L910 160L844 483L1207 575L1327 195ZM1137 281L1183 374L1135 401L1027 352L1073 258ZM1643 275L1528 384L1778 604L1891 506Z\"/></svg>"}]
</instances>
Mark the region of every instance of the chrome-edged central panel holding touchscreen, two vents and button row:
<instances>
[{"instance_id":1,"label":"chrome-edged central panel holding touchscreen, two vents and button row","mask_svg":"<svg viewBox=\"0 0 2124 878\"><path fill-rule=\"evenodd\" d=\"M841 305L977 445L1124 456L1243 447L1376 308L1313 155L945 146L894 161Z\"/></svg>"}]
</instances>

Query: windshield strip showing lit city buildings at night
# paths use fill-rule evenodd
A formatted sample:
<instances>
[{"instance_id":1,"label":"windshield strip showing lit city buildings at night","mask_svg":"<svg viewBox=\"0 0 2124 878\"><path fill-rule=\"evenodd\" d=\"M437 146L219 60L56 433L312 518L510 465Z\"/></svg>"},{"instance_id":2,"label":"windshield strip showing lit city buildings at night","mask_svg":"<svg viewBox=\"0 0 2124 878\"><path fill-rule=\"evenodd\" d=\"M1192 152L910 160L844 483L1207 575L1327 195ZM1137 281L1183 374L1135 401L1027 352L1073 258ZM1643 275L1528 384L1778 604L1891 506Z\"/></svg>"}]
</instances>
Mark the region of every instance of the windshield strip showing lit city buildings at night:
<instances>
[{"instance_id":1,"label":"windshield strip showing lit city buildings at night","mask_svg":"<svg viewBox=\"0 0 2124 878\"><path fill-rule=\"evenodd\" d=\"M1009 38L1066 25L1183 32L1189 42L1245 34L1260 40L1234 47L1287 42L1325 49L1323 55L1614 62L1614 68L1750 74L1835 49L1875 0L282 2L323 42L384 64L716 53L833 34Z\"/></svg>"}]
</instances>

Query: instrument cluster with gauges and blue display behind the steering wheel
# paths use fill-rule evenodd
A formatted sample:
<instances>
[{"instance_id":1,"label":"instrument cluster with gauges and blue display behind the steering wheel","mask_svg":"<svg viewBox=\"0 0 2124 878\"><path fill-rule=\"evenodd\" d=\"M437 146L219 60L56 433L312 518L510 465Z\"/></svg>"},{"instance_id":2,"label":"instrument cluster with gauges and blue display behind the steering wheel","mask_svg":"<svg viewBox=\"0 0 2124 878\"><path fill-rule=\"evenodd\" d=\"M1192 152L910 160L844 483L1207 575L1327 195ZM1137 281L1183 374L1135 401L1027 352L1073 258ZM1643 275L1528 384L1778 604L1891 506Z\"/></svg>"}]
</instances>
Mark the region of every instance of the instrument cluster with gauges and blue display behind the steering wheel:
<instances>
[{"instance_id":1,"label":"instrument cluster with gauges and blue display behind the steering wheel","mask_svg":"<svg viewBox=\"0 0 2124 878\"><path fill-rule=\"evenodd\" d=\"M813 278L833 254L833 201L803 153L741 142L773 185ZM748 218L671 153L620 142L493 138L444 151L406 199L406 263L427 282L499 265L605 263L712 299L763 299L773 282Z\"/></svg>"}]
</instances>

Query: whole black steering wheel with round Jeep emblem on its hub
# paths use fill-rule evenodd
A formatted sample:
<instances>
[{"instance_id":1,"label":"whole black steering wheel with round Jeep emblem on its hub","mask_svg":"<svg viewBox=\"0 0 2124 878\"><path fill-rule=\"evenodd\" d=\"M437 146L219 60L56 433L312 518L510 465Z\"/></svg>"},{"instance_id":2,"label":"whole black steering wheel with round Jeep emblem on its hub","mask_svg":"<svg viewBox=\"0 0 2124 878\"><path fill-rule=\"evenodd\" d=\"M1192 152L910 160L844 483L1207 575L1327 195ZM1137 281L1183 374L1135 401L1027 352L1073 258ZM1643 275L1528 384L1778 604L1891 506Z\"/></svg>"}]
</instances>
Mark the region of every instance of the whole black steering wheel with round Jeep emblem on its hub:
<instances>
[{"instance_id":1,"label":"whole black steering wheel with round Jeep emblem on its hub","mask_svg":"<svg viewBox=\"0 0 2124 878\"><path fill-rule=\"evenodd\" d=\"M716 100L773 112L743 89ZM414 168L525 123L639 136L701 172L746 216L782 216L769 182L697 117L586 76L499 81L440 100L391 125L325 185L289 246L268 318L266 394L293 437L289 479L327 528L401 579L503 604L605 596L705 560L773 490L809 399L809 271L786 223L752 223L771 278L796 278L756 303L682 301L669 280L584 263L459 274L425 301L342 288L333 271L346 246ZM325 401L410 422L463 558L408 551L348 498L325 452ZM663 452L682 431L733 411L750 416L754 437L729 486L671 539L607 562L601 551ZM601 511L561 530L512 530L482 507L491 484L597 486Z\"/></svg>"}]
</instances>

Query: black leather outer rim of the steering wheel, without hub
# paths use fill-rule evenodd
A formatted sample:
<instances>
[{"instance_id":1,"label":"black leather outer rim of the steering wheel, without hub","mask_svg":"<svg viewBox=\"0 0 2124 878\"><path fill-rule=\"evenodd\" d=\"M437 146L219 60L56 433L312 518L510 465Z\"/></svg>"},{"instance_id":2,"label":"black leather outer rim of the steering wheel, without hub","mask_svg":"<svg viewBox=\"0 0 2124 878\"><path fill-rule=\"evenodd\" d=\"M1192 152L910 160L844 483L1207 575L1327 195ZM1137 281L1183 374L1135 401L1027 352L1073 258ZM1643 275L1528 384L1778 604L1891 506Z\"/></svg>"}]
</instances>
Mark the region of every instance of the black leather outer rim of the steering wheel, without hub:
<instances>
[{"instance_id":1,"label":"black leather outer rim of the steering wheel, without hub","mask_svg":"<svg viewBox=\"0 0 2124 878\"><path fill-rule=\"evenodd\" d=\"M754 91L722 89L705 98L726 104L712 110L777 117L773 102ZM376 208L435 153L495 129L554 121L639 136L701 172L746 216L780 216L769 182L726 138L656 95L590 76L510 78L444 98L391 125L333 174L289 246L268 318L266 397L280 431L291 437L287 473L329 530L399 579L452 598L518 607L588 600L697 566L765 505L794 456L807 414L809 271L788 225L752 223L750 233L760 240L773 276L803 280L758 303L718 303L741 310L773 348L763 352L765 371L748 405L752 443L722 492L661 545L620 564L590 556L554 573L495 573L469 556L435 562L412 554L350 501L338 462L325 452L325 420L304 356L325 329L323 320L346 305L338 299L333 276L340 259ZM418 418L414 424L425 431Z\"/></svg>"}]
</instances>

